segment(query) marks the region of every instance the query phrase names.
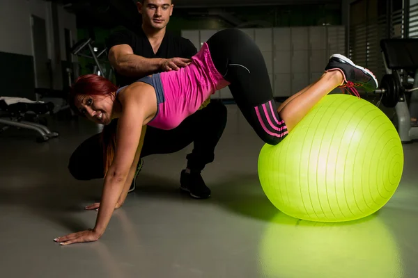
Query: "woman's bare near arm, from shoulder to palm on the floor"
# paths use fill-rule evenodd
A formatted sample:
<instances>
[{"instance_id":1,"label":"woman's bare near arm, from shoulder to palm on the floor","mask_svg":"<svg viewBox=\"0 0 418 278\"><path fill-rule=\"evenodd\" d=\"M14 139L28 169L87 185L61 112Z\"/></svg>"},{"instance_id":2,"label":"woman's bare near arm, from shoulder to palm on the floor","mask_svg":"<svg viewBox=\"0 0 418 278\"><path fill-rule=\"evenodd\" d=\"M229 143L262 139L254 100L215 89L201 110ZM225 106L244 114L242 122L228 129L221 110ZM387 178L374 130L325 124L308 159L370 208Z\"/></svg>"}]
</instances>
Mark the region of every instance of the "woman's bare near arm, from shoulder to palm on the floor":
<instances>
[{"instance_id":1,"label":"woman's bare near arm, from shoulder to palm on the floor","mask_svg":"<svg viewBox=\"0 0 418 278\"><path fill-rule=\"evenodd\" d=\"M138 93L138 90L141 90L141 94ZM116 131L116 152L106 177L104 177L102 202L100 202L95 227L56 238L55 241L61 245L95 241L104 234L116 202L123 192L123 186L127 181L134 158L137 156L142 126L147 124L157 111L155 91L150 88L146 90L144 86L136 85L127 88L123 96L120 96L119 101L123 106L123 113L118 120Z\"/></svg>"}]
</instances>

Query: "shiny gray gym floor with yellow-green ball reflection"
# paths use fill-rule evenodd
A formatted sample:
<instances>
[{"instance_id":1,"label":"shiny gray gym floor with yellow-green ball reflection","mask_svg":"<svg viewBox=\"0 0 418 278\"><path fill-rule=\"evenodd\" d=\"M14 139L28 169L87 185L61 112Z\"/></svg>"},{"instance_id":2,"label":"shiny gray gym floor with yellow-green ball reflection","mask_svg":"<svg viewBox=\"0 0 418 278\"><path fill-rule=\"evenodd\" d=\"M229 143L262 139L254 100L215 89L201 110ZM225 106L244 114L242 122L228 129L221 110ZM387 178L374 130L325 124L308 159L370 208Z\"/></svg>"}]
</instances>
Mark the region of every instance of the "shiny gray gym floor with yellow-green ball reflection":
<instances>
[{"instance_id":1,"label":"shiny gray gym floor with yellow-green ball reflection","mask_svg":"<svg viewBox=\"0 0 418 278\"><path fill-rule=\"evenodd\" d=\"M102 183L67 171L75 147L98 126L50 122L60 138L0 134L1 277L417 277L418 142L404 145L403 179L389 203L357 222L298 221L277 211L258 182L262 142L237 108L203 172L206 200L178 191L192 146L149 156L137 190L95 243L53 239L93 227Z\"/></svg>"}]
</instances>

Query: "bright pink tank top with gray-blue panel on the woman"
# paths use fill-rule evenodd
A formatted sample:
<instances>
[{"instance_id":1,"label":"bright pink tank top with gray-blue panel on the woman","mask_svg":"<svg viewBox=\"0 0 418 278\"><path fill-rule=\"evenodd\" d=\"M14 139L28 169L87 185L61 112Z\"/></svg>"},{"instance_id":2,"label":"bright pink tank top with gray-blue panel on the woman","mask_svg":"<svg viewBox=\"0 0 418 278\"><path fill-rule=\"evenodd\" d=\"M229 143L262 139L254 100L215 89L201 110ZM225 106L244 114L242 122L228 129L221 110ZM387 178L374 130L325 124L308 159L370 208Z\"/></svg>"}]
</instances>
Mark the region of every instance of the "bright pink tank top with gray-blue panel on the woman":
<instances>
[{"instance_id":1,"label":"bright pink tank top with gray-blue panel on the woman","mask_svg":"<svg viewBox=\"0 0 418 278\"><path fill-rule=\"evenodd\" d=\"M158 110L148 125L157 129L176 128L210 95L230 84L215 68L206 43L187 67L155 75Z\"/></svg>"}]
</instances>

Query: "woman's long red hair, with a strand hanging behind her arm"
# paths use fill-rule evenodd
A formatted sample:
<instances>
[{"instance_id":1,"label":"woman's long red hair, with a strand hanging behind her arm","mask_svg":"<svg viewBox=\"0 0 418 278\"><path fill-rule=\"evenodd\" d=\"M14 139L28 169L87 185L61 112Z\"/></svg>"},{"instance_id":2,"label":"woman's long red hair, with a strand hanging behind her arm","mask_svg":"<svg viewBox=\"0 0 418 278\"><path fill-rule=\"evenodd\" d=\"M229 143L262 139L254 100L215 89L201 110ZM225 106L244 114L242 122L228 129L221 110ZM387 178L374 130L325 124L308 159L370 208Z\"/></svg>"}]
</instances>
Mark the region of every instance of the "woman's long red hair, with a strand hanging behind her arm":
<instances>
[{"instance_id":1,"label":"woman's long red hair, with a strand hanging behind her arm","mask_svg":"<svg viewBox=\"0 0 418 278\"><path fill-rule=\"evenodd\" d=\"M82 115L75 105L75 100L79 95L109 95L116 92L118 87L108 79L96 74L86 74L79 76L71 86L68 94L68 103L75 113ZM82 115L84 117L84 115ZM102 130L103 162L104 175L113 161L116 149L116 121L111 121Z\"/></svg>"}]
</instances>

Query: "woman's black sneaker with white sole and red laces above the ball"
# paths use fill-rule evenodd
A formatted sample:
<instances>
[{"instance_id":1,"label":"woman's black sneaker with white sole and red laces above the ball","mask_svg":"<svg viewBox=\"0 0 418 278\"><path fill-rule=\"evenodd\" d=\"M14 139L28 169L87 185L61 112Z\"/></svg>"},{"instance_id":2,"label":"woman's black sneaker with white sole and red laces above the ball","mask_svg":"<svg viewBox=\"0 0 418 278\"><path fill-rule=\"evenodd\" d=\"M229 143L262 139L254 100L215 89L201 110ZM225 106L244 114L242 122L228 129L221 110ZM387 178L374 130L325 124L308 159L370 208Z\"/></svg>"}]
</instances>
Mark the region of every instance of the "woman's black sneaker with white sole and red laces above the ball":
<instances>
[{"instance_id":1,"label":"woman's black sneaker with white sole and red laces above the ball","mask_svg":"<svg viewBox=\"0 0 418 278\"><path fill-rule=\"evenodd\" d=\"M370 70L355 65L352 60L341 54L334 54L330 57L325 72L332 70L339 70L343 74L344 81L339 87L347 88L350 95L353 92L360 97L356 88L362 88L365 92L373 92L378 88L378 80Z\"/></svg>"}]
</instances>

